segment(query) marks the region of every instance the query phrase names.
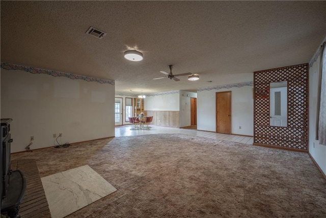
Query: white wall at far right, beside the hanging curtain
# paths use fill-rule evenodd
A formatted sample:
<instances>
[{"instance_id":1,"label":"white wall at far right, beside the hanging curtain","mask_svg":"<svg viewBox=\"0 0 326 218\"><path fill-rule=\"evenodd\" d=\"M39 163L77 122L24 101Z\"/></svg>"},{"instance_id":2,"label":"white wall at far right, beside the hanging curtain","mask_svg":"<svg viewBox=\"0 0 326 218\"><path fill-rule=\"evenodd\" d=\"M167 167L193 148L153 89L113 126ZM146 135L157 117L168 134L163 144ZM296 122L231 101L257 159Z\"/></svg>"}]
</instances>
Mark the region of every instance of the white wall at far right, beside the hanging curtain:
<instances>
[{"instance_id":1,"label":"white wall at far right, beside the hanging curtain","mask_svg":"<svg viewBox=\"0 0 326 218\"><path fill-rule=\"evenodd\" d=\"M315 140L316 135L316 111L317 111L317 87L319 78L320 55L309 69L309 153L317 162L322 172L326 174L326 146Z\"/></svg>"}]
</instances>

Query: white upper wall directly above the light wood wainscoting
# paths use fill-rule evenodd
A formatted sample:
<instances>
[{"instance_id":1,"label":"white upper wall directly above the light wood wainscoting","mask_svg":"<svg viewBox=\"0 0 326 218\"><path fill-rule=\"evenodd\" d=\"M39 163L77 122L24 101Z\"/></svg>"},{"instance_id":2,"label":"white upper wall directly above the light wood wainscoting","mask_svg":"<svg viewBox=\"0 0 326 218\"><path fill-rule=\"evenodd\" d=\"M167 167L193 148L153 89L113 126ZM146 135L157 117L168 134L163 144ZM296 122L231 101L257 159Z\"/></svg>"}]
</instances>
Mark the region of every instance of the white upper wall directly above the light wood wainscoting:
<instances>
[{"instance_id":1,"label":"white upper wall directly above the light wood wainscoting","mask_svg":"<svg viewBox=\"0 0 326 218\"><path fill-rule=\"evenodd\" d=\"M146 96L144 101L145 110L152 111L179 111L179 93L156 94Z\"/></svg>"}]
</instances>

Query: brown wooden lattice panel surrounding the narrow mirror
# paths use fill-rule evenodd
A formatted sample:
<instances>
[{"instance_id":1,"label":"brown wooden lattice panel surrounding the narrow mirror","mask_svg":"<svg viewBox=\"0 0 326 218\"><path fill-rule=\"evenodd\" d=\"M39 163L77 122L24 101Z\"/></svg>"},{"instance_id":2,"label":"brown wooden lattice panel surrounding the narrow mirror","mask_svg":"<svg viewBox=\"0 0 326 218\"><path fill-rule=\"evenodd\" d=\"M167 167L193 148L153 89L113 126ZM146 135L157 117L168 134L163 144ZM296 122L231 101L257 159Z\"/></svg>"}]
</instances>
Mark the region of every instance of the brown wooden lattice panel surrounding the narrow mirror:
<instances>
[{"instance_id":1,"label":"brown wooden lattice panel surrounding the narrow mirror","mask_svg":"<svg viewBox=\"0 0 326 218\"><path fill-rule=\"evenodd\" d=\"M308 152L308 64L254 72L254 145ZM287 81L287 127L270 126L269 84Z\"/></svg>"}]
</instances>

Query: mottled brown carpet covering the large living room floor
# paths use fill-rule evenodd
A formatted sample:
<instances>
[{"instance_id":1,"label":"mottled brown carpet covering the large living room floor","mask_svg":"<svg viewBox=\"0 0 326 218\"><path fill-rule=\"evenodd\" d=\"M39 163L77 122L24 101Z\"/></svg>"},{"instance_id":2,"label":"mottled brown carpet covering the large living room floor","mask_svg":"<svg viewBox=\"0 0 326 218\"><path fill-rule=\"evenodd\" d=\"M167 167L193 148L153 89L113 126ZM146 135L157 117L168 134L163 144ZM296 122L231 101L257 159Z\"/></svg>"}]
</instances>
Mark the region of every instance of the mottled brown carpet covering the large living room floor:
<instances>
[{"instance_id":1,"label":"mottled brown carpet covering the large living room floor","mask_svg":"<svg viewBox=\"0 0 326 218\"><path fill-rule=\"evenodd\" d=\"M41 177L88 164L118 190L68 217L325 217L326 181L306 153L157 134L12 155Z\"/></svg>"}]
</instances>

